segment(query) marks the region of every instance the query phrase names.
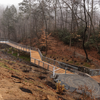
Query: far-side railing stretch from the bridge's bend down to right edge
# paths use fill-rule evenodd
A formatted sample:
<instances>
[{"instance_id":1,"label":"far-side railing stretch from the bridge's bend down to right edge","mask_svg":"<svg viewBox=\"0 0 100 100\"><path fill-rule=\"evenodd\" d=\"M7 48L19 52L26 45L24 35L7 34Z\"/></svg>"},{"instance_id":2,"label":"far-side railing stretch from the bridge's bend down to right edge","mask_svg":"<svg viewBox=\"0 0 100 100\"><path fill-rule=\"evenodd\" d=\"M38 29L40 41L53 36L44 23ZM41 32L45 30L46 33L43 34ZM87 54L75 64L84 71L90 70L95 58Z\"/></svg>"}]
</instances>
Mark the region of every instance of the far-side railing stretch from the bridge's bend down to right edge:
<instances>
[{"instance_id":1,"label":"far-side railing stretch from the bridge's bend down to right edge","mask_svg":"<svg viewBox=\"0 0 100 100\"><path fill-rule=\"evenodd\" d=\"M66 68L71 68L74 71L81 71L81 72L87 73L91 76L100 75L100 69L90 69L90 68L86 68L86 67L78 67L78 66L66 64L66 63L63 63L63 62L59 62L57 60L53 60L51 58L47 58L47 57L44 57L44 56L42 56L42 60L45 61L45 62L48 62L48 63L50 63L54 66L57 66L59 68L65 69L65 71L66 71ZM81 70L80 70L80 68L81 68Z\"/></svg>"}]
</instances>

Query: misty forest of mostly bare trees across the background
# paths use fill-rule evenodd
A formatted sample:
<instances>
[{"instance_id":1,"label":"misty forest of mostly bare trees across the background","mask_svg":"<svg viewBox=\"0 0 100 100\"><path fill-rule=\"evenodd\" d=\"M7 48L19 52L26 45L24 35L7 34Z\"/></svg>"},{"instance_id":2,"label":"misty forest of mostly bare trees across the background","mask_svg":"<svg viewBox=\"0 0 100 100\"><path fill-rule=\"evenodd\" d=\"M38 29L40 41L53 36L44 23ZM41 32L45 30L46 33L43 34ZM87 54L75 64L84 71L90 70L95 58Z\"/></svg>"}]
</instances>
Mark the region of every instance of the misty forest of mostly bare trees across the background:
<instances>
[{"instance_id":1,"label":"misty forest of mostly bare trees across the background","mask_svg":"<svg viewBox=\"0 0 100 100\"><path fill-rule=\"evenodd\" d=\"M42 32L52 34L70 47L90 46L100 52L100 0L23 0L0 7L0 38L13 41L39 39Z\"/></svg>"}]
</instances>

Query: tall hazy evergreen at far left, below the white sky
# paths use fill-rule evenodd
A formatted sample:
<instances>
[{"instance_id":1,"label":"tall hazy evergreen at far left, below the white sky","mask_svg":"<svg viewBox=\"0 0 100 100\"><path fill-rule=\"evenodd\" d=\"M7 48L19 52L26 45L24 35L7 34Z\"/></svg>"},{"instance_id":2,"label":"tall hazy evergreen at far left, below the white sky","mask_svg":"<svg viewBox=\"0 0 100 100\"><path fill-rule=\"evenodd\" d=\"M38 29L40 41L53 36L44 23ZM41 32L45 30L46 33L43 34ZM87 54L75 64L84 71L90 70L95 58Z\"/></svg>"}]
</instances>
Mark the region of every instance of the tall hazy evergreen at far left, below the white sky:
<instances>
[{"instance_id":1,"label":"tall hazy evergreen at far left, below the white sky","mask_svg":"<svg viewBox=\"0 0 100 100\"><path fill-rule=\"evenodd\" d=\"M17 22L17 10L14 5L6 7L3 12L2 26L8 33L8 39L16 39L16 22Z\"/></svg>"}]
</instances>

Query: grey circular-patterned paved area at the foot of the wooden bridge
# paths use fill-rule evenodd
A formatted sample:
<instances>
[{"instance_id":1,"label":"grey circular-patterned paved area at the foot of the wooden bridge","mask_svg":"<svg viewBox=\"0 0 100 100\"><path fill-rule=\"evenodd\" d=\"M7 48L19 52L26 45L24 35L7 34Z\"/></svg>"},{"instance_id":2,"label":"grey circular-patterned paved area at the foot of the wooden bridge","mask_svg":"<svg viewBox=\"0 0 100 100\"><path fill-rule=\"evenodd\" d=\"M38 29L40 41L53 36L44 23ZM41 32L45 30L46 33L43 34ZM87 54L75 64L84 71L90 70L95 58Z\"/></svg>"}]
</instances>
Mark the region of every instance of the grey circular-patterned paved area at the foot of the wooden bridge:
<instances>
[{"instance_id":1,"label":"grey circular-patterned paved area at the foot of the wooden bridge","mask_svg":"<svg viewBox=\"0 0 100 100\"><path fill-rule=\"evenodd\" d=\"M61 81L61 84L65 85L66 89L69 89L72 92L79 87L87 86L89 90L92 90L92 96L95 96L96 98L100 97L100 86L90 77L84 77L77 74L59 74L57 79Z\"/></svg>"}]
</instances>

